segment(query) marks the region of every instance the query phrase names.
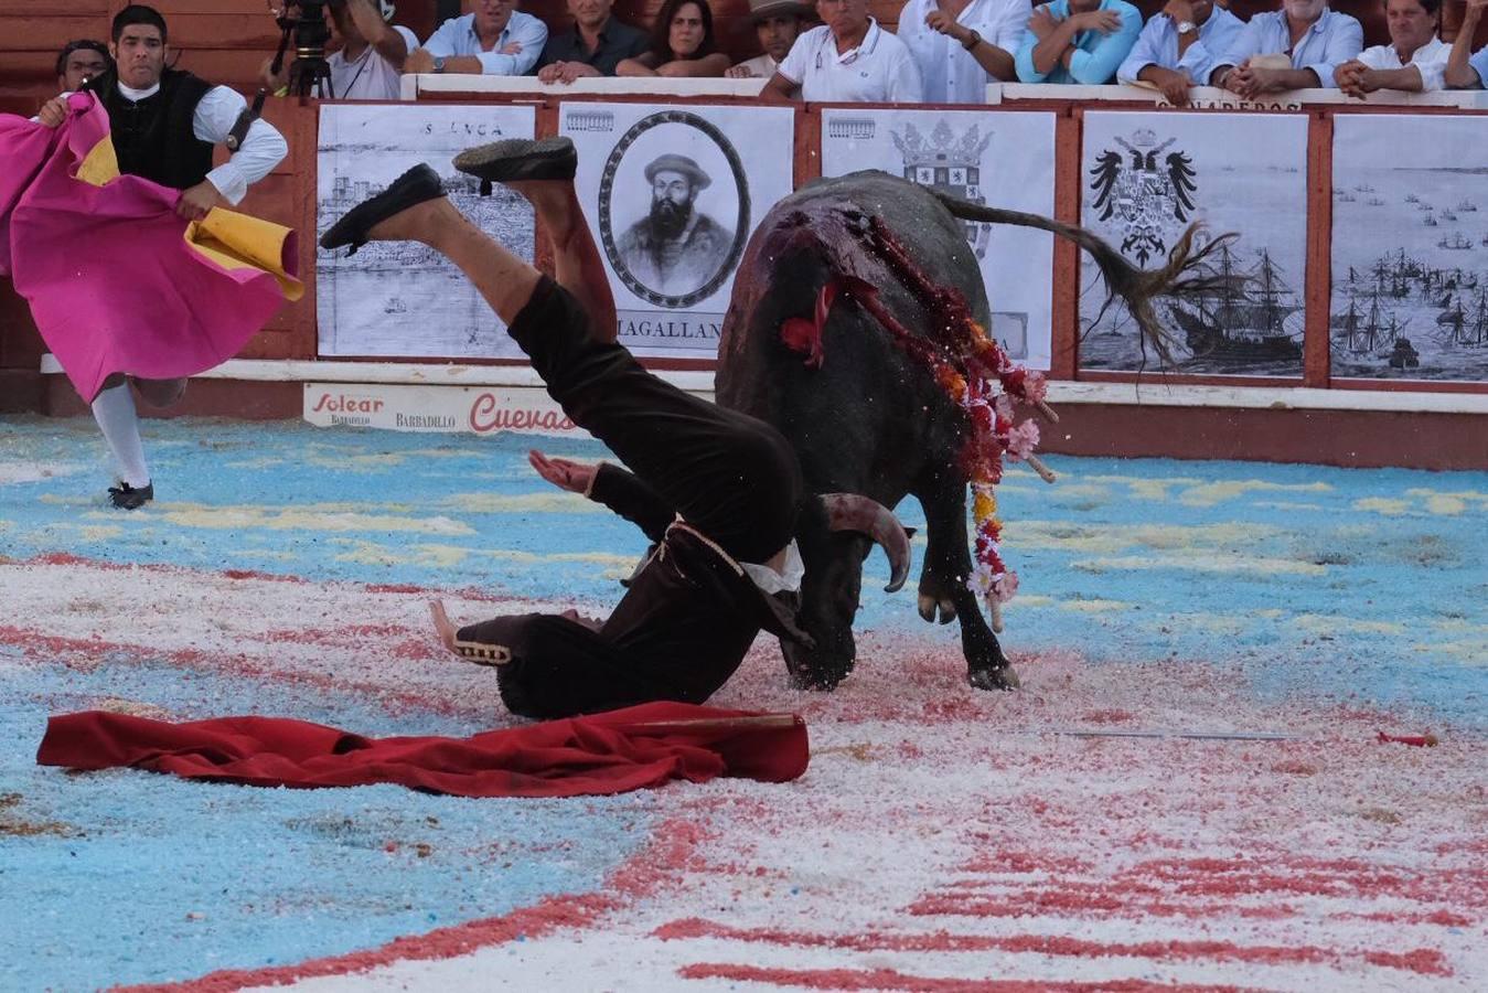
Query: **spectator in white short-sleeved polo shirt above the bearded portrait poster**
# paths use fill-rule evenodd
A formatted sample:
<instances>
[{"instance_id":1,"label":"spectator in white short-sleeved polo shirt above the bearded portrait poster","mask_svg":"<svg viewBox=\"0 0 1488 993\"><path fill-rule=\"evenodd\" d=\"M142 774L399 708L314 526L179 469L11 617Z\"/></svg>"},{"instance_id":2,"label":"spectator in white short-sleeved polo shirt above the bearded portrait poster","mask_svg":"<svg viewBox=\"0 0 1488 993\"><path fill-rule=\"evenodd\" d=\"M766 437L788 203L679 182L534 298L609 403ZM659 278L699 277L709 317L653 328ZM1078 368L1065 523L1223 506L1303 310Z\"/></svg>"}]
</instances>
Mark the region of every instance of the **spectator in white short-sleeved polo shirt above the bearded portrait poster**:
<instances>
[{"instance_id":1,"label":"spectator in white short-sleeved polo shirt above the bearded portrait poster","mask_svg":"<svg viewBox=\"0 0 1488 993\"><path fill-rule=\"evenodd\" d=\"M765 100L920 103L924 83L909 46L868 16L868 0L817 0L823 25L796 39Z\"/></svg>"}]
</instances>

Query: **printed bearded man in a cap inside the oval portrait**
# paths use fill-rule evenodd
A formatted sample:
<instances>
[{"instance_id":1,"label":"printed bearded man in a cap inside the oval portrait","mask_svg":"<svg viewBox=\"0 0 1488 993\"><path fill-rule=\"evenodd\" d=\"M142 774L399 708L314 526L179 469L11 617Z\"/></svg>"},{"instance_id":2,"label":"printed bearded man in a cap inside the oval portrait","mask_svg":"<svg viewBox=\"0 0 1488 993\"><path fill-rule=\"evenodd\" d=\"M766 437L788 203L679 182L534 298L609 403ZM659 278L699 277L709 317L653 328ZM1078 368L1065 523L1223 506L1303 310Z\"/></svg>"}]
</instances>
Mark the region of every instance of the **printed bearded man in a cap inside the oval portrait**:
<instances>
[{"instance_id":1,"label":"printed bearded man in a cap inside the oval portrait","mask_svg":"<svg viewBox=\"0 0 1488 993\"><path fill-rule=\"evenodd\" d=\"M615 250L643 286L679 296L723 268L734 232L695 208L713 179L686 155L667 153L646 167L650 211L619 237Z\"/></svg>"}]
</instances>

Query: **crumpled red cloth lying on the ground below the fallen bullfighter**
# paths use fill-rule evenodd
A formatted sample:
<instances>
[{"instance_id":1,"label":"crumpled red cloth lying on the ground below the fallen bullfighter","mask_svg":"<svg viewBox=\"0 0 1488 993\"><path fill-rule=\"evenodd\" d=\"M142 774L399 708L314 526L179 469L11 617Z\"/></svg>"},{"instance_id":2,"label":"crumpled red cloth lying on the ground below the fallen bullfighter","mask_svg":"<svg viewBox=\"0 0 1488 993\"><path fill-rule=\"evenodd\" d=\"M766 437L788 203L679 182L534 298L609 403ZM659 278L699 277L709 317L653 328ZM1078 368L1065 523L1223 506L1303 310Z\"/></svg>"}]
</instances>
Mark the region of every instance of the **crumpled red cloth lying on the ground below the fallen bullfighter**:
<instances>
[{"instance_id":1,"label":"crumpled red cloth lying on the ground below the fallen bullfighter","mask_svg":"<svg viewBox=\"0 0 1488 993\"><path fill-rule=\"evenodd\" d=\"M766 783L806 771L806 725L682 703L487 731L469 738L363 738L280 718L189 724L88 710L52 718L40 765L115 767L248 786L400 783L457 796L586 796L737 776Z\"/></svg>"}]
</instances>

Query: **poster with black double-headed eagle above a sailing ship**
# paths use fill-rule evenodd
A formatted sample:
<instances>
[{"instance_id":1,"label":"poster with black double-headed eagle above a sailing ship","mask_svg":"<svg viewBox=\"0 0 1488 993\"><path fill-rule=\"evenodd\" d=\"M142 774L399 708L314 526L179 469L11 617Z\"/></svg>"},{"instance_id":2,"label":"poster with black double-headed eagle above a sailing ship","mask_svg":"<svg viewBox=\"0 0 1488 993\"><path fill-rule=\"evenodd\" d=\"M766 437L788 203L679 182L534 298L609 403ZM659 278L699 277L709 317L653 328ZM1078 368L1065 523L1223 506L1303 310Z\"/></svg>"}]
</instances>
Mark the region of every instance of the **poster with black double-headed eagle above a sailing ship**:
<instances>
[{"instance_id":1,"label":"poster with black double-headed eagle above a sailing ship","mask_svg":"<svg viewBox=\"0 0 1488 993\"><path fill-rule=\"evenodd\" d=\"M1306 118L1268 113L1085 115L1082 222L1140 268L1158 268L1193 223L1235 232L1214 253L1214 290L1164 299L1170 372L1302 375ZM1156 371L1158 354L1080 259L1080 368Z\"/></svg>"}]
</instances>

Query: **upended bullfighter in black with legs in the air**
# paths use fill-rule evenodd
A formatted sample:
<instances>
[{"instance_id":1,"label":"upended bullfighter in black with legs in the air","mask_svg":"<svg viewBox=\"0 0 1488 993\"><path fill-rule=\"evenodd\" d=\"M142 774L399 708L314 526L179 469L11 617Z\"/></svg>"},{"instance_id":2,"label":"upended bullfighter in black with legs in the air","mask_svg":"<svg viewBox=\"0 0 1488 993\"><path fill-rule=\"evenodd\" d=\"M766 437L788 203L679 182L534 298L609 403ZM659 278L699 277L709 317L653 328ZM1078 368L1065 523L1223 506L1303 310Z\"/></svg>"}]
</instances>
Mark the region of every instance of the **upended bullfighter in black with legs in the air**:
<instances>
[{"instance_id":1,"label":"upended bullfighter in black with legs in the air","mask_svg":"<svg viewBox=\"0 0 1488 993\"><path fill-rule=\"evenodd\" d=\"M795 451L771 426L650 375L616 342L615 301L573 186L568 138L497 141L455 167L527 197L552 240L555 278L516 258L445 199L418 165L354 207L321 246L420 241L445 255L507 323L509 333L576 424L631 470L533 453L548 481L604 503L655 543L603 624L573 612L434 627L455 654L497 667L507 709L561 718L652 700L701 703L740 667L765 628L811 643L795 621L802 518L870 533L899 584L909 542L882 506L804 493Z\"/></svg>"}]
</instances>

